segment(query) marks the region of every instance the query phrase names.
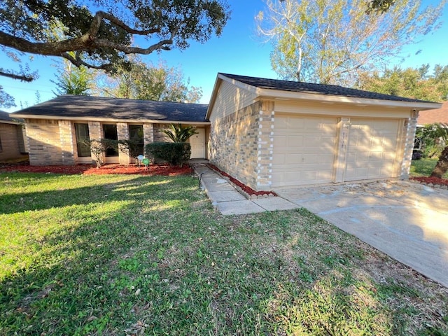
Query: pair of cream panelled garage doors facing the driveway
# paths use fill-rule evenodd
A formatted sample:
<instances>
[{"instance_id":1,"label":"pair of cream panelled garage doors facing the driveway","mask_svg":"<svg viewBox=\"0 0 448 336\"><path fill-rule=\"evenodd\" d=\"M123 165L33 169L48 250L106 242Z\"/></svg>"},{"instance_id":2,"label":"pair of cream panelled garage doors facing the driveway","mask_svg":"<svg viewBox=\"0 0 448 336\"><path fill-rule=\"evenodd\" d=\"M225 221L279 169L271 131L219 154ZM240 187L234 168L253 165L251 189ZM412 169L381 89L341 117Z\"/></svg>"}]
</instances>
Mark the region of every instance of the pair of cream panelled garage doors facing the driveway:
<instances>
[{"instance_id":1,"label":"pair of cream panelled garage doors facing the driveway","mask_svg":"<svg viewBox=\"0 0 448 336\"><path fill-rule=\"evenodd\" d=\"M276 116L272 155L272 187L398 176L400 120L346 118L348 132L338 135L333 117ZM337 144L338 137L346 137Z\"/></svg>"}]
</instances>

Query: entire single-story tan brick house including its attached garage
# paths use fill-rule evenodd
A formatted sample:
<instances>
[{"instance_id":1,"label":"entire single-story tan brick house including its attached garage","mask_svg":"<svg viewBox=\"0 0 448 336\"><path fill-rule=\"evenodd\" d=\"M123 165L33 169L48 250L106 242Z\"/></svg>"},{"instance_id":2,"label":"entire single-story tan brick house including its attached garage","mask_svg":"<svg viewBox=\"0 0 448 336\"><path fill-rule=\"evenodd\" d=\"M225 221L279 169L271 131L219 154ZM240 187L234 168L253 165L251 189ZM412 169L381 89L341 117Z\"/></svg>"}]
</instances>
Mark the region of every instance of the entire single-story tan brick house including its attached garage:
<instances>
[{"instance_id":1,"label":"entire single-story tan brick house including its attached garage","mask_svg":"<svg viewBox=\"0 0 448 336\"><path fill-rule=\"evenodd\" d=\"M25 118L31 165L91 162L83 137L165 139L194 125L192 158L207 158L255 190L406 179L419 111L441 104L321 85L218 73L209 105L61 96ZM141 132L141 133L139 133ZM207 148L207 151L205 151ZM130 162L122 153L107 162Z\"/></svg>"}]
</instances>

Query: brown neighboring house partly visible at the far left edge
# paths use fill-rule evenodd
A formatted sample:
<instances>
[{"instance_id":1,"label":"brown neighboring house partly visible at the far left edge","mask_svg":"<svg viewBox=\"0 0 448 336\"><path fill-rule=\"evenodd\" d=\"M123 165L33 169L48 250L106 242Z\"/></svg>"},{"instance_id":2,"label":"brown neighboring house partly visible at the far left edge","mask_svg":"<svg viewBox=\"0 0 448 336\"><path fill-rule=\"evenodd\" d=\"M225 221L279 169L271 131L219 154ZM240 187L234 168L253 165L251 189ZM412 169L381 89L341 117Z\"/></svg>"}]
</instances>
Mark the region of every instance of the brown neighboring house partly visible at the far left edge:
<instances>
[{"instance_id":1,"label":"brown neighboring house partly visible at the far left edge","mask_svg":"<svg viewBox=\"0 0 448 336\"><path fill-rule=\"evenodd\" d=\"M0 162L22 158L25 153L22 124L0 111Z\"/></svg>"}]
</instances>

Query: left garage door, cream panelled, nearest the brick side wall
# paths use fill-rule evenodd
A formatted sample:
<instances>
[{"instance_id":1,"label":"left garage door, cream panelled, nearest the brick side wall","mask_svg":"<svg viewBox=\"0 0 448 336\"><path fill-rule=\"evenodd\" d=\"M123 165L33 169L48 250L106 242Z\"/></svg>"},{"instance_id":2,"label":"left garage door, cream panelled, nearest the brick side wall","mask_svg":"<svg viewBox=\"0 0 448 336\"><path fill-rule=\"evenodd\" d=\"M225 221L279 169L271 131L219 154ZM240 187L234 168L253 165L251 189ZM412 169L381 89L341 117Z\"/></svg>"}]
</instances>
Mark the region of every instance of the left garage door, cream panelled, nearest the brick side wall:
<instances>
[{"instance_id":1,"label":"left garage door, cream panelled, nearest the brick side wall","mask_svg":"<svg viewBox=\"0 0 448 336\"><path fill-rule=\"evenodd\" d=\"M336 118L276 116L272 186L331 182L336 126Z\"/></svg>"}]
</instances>

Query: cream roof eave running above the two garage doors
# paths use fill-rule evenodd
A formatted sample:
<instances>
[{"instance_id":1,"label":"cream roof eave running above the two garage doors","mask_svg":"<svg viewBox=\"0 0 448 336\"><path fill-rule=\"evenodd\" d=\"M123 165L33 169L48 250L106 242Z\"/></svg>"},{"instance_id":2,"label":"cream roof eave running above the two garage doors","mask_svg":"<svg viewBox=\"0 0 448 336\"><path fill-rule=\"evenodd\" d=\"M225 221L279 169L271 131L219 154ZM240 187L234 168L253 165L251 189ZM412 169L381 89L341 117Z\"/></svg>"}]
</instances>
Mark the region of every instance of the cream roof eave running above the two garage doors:
<instances>
[{"instance_id":1,"label":"cream roof eave running above the two garage doors","mask_svg":"<svg viewBox=\"0 0 448 336\"><path fill-rule=\"evenodd\" d=\"M433 102L402 102L395 100L370 99L359 97L337 96L334 94L318 94L311 92L290 92L284 90L272 90L258 88L258 96L260 99L270 100L308 100L314 102L322 102L328 104L358 104L366 106L384 106L388 108L410 108L416 111L440 109L442 104Z\"/></svg>"}]
</instances>

